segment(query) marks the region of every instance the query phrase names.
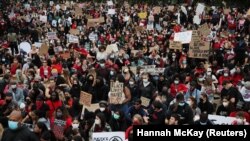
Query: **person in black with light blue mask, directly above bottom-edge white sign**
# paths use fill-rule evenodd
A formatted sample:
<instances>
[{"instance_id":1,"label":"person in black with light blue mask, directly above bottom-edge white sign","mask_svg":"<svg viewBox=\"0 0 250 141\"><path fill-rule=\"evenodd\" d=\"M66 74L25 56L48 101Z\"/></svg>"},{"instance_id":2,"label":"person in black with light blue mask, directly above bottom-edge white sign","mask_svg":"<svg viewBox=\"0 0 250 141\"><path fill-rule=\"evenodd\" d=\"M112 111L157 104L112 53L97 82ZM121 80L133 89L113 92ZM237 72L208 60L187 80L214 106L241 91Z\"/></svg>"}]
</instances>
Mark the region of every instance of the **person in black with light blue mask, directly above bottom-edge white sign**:
<instances>
[{"instance_id":1,"label":"person in black with light blue mask, directly above bottom-edge white sign","mask_svg":"<svg viewBox=\"0 0 250 141\"><path fill-rule=\"evenodd\" d=\"M127 129L127 122L124 112L114 111L112 118L109 121L109 125L112 131L125 131Z\"/></svg>"}]
</instances>

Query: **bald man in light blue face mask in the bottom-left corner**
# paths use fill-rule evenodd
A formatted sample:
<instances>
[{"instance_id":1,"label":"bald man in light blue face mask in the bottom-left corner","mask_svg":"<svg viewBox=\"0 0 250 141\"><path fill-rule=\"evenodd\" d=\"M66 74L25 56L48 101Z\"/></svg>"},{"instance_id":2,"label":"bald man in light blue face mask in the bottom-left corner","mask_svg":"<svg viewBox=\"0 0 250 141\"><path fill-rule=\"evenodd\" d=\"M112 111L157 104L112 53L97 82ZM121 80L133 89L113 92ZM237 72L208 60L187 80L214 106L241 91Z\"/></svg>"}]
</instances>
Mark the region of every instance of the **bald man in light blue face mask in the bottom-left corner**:
<instances>
[{"instance_id":1,"label":"bald man in light blue face mask in the bottom-left corner","mask_svg":"<svg viewBox=\"0 0 250 141\"><path fill-rule=\"evenodd\" d=\"M22 113L21 111L12 111L9 115L8 128L6 128L2 135L2 141L39 141L39 138L35 136L26 126L21 124Z\"/></svg>"}]
</instances>

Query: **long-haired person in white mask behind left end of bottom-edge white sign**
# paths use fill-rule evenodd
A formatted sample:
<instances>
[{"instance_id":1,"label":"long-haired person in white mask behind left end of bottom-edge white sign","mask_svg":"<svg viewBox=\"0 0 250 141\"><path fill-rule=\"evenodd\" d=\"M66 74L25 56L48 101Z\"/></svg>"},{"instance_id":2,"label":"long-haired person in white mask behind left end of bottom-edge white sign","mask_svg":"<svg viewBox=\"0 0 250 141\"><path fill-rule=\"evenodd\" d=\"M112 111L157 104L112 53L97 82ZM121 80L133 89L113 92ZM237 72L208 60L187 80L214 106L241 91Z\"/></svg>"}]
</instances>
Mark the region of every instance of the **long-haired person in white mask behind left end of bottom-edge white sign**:
<instances>
[{"instance_id":1,"label":"long-haired person in white mask behind left end of bottom-edge white sign","mask_svg":"<svg viewBox=\"0 0 250 141\"><path fill-rule=\"evenodd\" d=\"M89 131L89 140L92 140L94 132L112 132L112 129L107 123L105 115L103 113L96 114L95 122Z\"/></svg>"}]
</instances>

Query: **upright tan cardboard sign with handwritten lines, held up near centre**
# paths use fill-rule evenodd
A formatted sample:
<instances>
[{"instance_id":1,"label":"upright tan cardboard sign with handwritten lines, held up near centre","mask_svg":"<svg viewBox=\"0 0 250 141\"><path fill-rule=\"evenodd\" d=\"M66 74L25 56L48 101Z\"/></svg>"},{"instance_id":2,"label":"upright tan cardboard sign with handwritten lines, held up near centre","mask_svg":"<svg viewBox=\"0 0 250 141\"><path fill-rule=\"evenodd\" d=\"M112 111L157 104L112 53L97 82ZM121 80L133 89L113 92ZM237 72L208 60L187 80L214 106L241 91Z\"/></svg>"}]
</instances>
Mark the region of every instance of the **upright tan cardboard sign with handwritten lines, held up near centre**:
<instances>
[{"instance_id":1,"label":"upright tan cardboard sign with handwritten lines, held up near centre","mask_svg":"<svg viewBox=\"0 0 250 141\"><path fill-rule=\"evenodd\" d=\"M122 104L124 98L123 85L123 83L120 83L118 81L111 82L109 93L110 104Z\"/></svg>"}]
</instances>

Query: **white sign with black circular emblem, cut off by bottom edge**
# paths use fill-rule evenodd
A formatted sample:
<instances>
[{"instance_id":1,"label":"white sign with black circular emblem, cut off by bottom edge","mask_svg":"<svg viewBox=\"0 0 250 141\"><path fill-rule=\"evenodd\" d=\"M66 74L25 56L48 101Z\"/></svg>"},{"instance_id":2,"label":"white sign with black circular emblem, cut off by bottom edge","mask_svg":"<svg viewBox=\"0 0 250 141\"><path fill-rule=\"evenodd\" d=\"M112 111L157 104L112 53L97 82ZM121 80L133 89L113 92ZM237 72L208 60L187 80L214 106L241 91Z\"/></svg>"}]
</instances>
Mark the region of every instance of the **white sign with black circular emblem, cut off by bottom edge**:
<instances>
[{"instance_id":1,"label":"white sign with black circular emblem, cut off by bottom edge","mask_svg":"<svg viewBox=\"0 0 250 141\"><path fill-rule=\"evenodd\" d=\"M125 132L94 132L92 141L125 141Z\"/></svg>"}]
</instances>

